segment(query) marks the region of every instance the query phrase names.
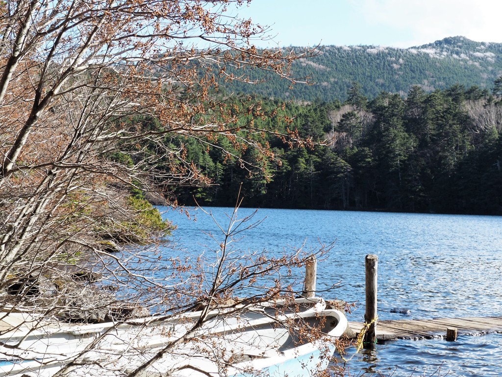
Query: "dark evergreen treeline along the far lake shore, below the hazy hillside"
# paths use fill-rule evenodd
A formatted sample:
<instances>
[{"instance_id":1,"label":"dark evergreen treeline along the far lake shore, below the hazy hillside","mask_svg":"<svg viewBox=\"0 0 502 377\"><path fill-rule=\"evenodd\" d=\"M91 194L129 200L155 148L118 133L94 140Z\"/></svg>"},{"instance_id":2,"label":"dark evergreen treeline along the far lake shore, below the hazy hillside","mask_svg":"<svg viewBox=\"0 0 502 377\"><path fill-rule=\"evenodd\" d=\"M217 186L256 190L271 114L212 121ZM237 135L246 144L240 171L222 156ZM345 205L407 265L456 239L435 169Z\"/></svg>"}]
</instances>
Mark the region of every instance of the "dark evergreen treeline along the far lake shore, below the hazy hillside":
<instances>
[{"instance_id":1,"label":"dark evergreen treeline along the far lake shore, below the hazy hillside","mask_svg":"<svg viewBox=\"0 0 502 377\"><path fill-rule=\"evenodd\" d=\"M273 152L271 162L256 149L232 149L218 140L209 148L170 140L183 145L187 161L212 181L175 187L175 195L186 205L195 197L200 205L233 206L242 182L249 207L500 215L501 84L498 79L492 92L455 85L427 93L414 86L406 99L381 93L368 101L354 83L344 103L282 108L262 99L259 108L268 116L258 117L255 126L296 129L302 138L326 140L324 145L257 136ZM235 156L255 166L255 173L249 175Z\"/></svg>"}]
</instances>

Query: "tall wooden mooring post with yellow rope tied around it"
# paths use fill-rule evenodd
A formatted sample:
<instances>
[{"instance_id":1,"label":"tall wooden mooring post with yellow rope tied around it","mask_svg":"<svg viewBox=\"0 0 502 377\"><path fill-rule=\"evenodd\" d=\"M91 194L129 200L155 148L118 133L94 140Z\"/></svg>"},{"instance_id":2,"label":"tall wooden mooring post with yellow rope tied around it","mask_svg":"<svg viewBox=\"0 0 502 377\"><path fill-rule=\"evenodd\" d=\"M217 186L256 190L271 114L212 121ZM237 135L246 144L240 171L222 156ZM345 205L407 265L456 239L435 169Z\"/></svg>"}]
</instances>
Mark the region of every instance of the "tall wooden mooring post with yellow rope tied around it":
<instances>
[{"instance_id":1,"label":"tall wooden mooring post with yellow rope tied around it","mask_svg":"<svg viewBox=\"0 0 502 377\"><path fill-rule=\"evenodd\" d=\"M378 256L368 254L365 258L366 267L366 312L364 313L364 322L369 325L364 334L364 348L373 347L376 341L376 291L377 291L377 269Z\"/></svg>"}]
</instances>

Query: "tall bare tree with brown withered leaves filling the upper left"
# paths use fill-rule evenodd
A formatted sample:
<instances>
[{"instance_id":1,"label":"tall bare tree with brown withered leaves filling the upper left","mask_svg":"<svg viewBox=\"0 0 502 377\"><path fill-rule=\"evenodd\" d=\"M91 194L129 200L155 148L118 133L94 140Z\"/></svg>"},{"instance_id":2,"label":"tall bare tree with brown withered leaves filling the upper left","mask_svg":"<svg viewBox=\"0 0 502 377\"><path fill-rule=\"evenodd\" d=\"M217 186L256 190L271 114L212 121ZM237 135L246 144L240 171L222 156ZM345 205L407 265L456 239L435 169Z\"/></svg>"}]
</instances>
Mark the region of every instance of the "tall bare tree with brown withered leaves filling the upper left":
<instances>
[{"instance_id":1,"label":"tall bare tree with brown withered leaves filling the upper left","mask_svg":"<svg viewBox=\"0 0 502 377\"><path fill-rule=\"evenodd\" d=\"M42 248L50 260L70 243L102 245L117 216L131 216L105 185L159 193L203 180L183 146L160 142L165 135L227 138L268 153L250 137L268 131L237 126L239 114L211 92L228 64L286 75L298 56L258 51L249 41L263 30L227 17L233 3L242 2L2 3L0 281ZM159 124L148 128L137 117ZM148 144L156 154L146 153Z\"/></svg>"}]
</instances>

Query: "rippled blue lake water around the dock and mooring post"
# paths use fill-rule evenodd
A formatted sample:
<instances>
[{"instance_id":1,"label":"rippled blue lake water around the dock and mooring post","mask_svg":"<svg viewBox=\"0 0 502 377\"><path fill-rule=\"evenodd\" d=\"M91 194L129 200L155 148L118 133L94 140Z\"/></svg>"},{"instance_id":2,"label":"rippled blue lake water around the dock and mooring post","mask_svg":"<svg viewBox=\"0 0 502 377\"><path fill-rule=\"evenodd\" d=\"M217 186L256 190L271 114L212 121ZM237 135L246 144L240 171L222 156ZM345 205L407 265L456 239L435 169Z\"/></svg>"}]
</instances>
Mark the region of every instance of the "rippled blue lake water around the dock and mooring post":
<instances>
[{"instance_id":1,"label":"rippled blue lake water around the dock and mooring post","mask_svg":"<svg viewBox=\"0 0 502 377\"><path fill-rule=\"evenodd\" d=\"M225 214L232 209L207 210L228 224ZM239 209L239 217L253 212ZM164 216L178 226L172 240L186 253L216 245L207 233L221 238L200 210L190 219L174 211ZM380 319L404 318L393 308L407 308L406 318L417 319L502 315L502 217L260 209L254 219L263 222L242 233L236 244L242 250L274 254L335 242L317 266L317 290L327 299L363 304L364 256L377 254ZM361 305L349 319L363 315ZM502 376L502 334L388 342L356 355L348 366L351 375Z\"/></svg>"}]
</instances>

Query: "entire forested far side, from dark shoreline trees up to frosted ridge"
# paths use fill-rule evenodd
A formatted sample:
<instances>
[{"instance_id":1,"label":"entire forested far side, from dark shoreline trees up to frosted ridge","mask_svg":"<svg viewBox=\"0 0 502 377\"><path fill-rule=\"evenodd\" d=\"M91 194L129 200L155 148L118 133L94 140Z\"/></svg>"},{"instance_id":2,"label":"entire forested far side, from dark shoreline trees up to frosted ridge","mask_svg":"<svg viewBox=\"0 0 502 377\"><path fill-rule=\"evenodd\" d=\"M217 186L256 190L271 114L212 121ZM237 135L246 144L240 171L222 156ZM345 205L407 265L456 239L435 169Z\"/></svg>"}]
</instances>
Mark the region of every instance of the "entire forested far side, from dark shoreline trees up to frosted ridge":
<instances>
[{"instance_id":1,"label":"entire forested far side, from dark shoreline trees up to frosted ridge","mask_svg":"<svg viewBox=\"0 0 502 377\"><path fill-rule=\"evenodd\" d=\"M502 214L502 44L327 46L292 68L317 83L218 88L233 141L164 140L201 172L174 200L232 206L241 190L250 207Z\"/></svg>"}]
</instances>

